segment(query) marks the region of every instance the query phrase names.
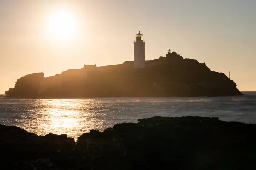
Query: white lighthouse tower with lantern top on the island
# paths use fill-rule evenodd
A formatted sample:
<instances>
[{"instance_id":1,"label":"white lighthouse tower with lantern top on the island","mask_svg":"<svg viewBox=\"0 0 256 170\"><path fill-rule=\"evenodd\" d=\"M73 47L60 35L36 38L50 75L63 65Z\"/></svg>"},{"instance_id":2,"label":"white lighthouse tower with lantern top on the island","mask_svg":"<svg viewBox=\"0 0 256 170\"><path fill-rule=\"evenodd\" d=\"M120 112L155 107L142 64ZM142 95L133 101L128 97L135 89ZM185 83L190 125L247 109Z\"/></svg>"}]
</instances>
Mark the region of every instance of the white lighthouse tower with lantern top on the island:
<instances>
[{"instance_id":1,"label":"white lighthouse tower with lantern top on the island","mask_svg":"<svg viewBox=\"0 0 256 170\"><path fill-rule=\"evenodd\" d=\"M134 68L145 68L145 41L140 31L134 40Z\"/></svg>"}]
</instances>

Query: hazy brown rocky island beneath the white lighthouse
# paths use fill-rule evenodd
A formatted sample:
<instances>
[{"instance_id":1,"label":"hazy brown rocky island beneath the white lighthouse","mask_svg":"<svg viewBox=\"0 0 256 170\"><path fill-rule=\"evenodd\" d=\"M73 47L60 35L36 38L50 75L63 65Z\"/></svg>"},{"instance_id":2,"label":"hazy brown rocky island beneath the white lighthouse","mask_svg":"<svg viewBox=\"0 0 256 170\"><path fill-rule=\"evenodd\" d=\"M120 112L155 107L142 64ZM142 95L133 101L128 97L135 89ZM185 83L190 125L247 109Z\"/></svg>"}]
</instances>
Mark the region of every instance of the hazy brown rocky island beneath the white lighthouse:
<instances>
[{"instance_id":1,"label":"hazy brown rocky island beneath the white lighthouse","mask_svg":"<svg viewBox=\"0 0 256 170\"><path fill-rule=\"evenodd\" d=\"M176 52L145 61L97 67L84 65L51 77L33 73L17 80L6 97L170 97L243 95L224 73L211 71L205 63Z\"/></svg>"}]
</instances>

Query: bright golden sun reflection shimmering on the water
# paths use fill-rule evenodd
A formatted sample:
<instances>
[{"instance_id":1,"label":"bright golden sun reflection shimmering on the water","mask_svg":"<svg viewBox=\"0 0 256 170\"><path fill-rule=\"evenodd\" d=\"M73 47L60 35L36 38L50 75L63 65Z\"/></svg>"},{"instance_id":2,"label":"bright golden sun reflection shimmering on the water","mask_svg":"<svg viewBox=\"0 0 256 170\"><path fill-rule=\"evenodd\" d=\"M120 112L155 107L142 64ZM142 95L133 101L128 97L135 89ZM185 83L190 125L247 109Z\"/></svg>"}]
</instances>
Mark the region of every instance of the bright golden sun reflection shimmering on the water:
<instances>
[{"instance_id":1,"label":"bright golden sun reflection shimmering on the water","mask_svg":"<svg viewBox=\"0 0 256 170\"><path fill-rule=\"evenodd\" d=\"M95 116L93 112L88 112L91 101L47 99L42 102L44 109L41 112L43 112L44 118L40 121L41 124L38 124L41 127L41 134L49 132L77 137L92 128L97 128L102 123L93 118Z\"/></svg>"}]
</instances>

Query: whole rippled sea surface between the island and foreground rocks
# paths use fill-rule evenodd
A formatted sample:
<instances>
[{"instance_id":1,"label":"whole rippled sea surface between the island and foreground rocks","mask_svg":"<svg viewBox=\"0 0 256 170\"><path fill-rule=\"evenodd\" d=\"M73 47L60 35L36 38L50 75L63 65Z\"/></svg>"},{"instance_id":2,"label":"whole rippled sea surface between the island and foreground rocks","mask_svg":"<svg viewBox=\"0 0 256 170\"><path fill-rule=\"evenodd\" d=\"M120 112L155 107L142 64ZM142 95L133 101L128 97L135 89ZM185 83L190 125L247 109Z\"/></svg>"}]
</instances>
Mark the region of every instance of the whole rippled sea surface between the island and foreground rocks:
<instances>
[{"instance_id":1,"label":"whole rippled sea surface between the island and foreground rocks","mask_svg":"<svg viewBox=\"0 0 256 170\"><path fill-rule=\"evenodd\" d=\"M256 123L256 92L227 97L7 99L0 98L0 124L15 125L38 135L77 138L90 129L137 122L153 116L208 116Z\"/></svg>"}]
</instances>

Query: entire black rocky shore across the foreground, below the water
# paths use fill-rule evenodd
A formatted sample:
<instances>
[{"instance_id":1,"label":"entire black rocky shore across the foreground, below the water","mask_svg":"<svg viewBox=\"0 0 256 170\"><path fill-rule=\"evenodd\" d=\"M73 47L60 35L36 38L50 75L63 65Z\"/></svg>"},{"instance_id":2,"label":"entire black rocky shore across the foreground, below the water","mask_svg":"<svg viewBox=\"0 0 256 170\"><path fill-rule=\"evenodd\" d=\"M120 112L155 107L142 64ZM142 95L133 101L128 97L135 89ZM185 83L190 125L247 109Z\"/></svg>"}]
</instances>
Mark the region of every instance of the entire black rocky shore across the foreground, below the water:
<instances>
[{"instance_id":1,"label":"entire black rocky shore across the foreground, below the water","mask_svg":"<svg viewBox=\"0 0 256 170\"><path fill-rule=\"evenodd\" d=\"M153 117L67 135L0 125L0 169L246 170L255 168L256 125L207 117Z\"/></svg>"}]
</instances>

